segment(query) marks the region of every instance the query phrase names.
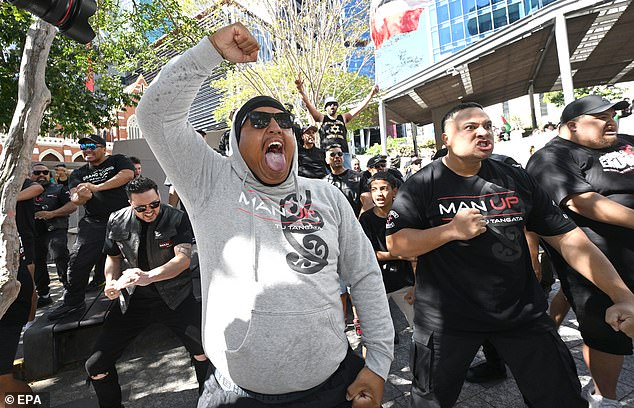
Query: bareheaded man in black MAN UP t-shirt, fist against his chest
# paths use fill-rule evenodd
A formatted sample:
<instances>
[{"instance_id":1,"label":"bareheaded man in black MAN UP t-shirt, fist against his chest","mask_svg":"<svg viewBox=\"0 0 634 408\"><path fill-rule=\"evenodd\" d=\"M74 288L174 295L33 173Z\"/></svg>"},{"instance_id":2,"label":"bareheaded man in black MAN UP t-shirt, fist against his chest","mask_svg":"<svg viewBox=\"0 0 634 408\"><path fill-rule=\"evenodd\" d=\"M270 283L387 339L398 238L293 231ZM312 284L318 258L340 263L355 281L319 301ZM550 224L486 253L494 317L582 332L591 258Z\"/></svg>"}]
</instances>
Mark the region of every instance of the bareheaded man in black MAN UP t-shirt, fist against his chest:
<instances>
[{"instance_id":1,"label":"bareheaded man in black MAN UP t-shirt, fist against his chest","mask_svg":"<svg viewBox=\"0 0 634 408\"><path fill-rule=\"evenodd\" d=\"M522 168L491 159L479 104L441 122L448 153L399 190L387 223L390 253L418 257L412 406L452 406L489 340L527 404L587 407L575 364L547 310L524 231L537 233L614 302L613 330L634 335L634 295L587 236Z\"/></svg>"}]
</instances>

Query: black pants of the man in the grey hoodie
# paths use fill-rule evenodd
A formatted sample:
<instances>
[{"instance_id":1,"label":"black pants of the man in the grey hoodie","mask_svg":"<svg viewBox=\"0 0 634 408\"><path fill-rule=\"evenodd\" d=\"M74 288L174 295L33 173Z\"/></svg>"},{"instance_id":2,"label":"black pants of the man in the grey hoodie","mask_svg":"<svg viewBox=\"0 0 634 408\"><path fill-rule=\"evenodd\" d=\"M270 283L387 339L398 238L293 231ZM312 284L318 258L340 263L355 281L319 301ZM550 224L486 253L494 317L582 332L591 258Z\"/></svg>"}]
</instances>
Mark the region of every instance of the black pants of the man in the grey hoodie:
<instances>
[{"instance_id":1,"label":"black pants of the man in the grey hoodie","mask_svg":"<svg viewBox=\"0 0 634 408\"><path fill-rule=\"evenodd\" d=\"M330 378L316 387L310 395L289 403L267 404L257 399L241 397L234 392L225 391L212 375L205 382L198 408L349 408L352 401L346 401L346 391L364 364L361 357L348 349L346 358Z\"/></svg>"}]
</instances>

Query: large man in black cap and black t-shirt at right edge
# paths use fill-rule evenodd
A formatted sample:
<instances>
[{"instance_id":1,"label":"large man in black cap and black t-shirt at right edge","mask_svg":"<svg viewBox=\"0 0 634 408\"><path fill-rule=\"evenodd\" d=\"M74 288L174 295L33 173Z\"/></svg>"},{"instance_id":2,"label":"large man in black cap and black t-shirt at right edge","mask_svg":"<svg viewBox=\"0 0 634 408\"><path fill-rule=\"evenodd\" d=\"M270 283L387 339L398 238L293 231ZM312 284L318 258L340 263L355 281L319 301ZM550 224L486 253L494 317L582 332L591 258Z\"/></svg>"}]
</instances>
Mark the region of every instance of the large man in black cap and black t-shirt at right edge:
<instances>
[{"instance_id":1,"label":"large man in black cap and black t-shirt at right edge","mask_svg":"<svg viewBox=\"0 0 634 408\"><path fill-rule=\"evenodd\" d=\"M538 150L526 169L634 290L634 137L619 134L615 120L626 106L598 95L571 102L561 115L559 137ZM617 406L616 384L632 340L604 323L610 298L548 249L579 321L595 384L592 406Z\"/></svg>"}]
</instances>

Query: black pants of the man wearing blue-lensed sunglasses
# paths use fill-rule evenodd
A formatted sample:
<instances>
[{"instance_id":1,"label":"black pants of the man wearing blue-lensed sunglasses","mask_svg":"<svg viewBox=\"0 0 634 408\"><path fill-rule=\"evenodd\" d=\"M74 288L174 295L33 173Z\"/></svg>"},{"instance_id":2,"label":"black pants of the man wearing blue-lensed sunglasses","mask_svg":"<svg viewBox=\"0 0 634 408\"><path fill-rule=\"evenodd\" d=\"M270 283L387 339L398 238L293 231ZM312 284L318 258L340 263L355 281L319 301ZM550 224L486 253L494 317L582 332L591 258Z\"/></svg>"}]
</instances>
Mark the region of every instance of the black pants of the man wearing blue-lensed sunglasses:
<instances>
[{"instance_id":1,"label":"black pants of the man wearing blue-lensed sunglasses","mask_svg":"<svg viewBox=\"0 0 634 408\"><path fill-rule=\"evenodd\" d=\"M106 239L106 223L82 218L77 229L68 264L68 287L64 304L74 306L84 301L90 271L104 259L103 245Z\"/></svg>"}]
</instances>

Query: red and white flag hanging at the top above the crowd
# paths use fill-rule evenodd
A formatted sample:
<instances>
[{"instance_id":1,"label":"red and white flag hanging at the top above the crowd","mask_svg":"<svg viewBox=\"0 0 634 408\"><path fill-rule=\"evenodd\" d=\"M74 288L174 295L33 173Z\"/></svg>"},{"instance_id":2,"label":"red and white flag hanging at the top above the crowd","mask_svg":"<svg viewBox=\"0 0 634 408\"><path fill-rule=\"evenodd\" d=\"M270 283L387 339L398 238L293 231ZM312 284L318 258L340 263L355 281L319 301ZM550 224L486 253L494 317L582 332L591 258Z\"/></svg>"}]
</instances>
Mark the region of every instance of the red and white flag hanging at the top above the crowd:
<instances>
[{"instance_id":1,"label":"red and white flag hanging at the top above the crowd","mask_svg":"<svg viewBox=\"0 0 634 408\"><path fill-rule=\"evenodd\" d=\"M418 29L418 20L430 0L373 0L370 7L370 34L374 47L394 35Z\"/></svg>"}]
</instances>

